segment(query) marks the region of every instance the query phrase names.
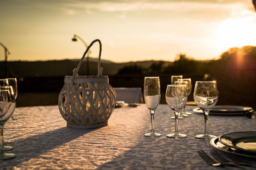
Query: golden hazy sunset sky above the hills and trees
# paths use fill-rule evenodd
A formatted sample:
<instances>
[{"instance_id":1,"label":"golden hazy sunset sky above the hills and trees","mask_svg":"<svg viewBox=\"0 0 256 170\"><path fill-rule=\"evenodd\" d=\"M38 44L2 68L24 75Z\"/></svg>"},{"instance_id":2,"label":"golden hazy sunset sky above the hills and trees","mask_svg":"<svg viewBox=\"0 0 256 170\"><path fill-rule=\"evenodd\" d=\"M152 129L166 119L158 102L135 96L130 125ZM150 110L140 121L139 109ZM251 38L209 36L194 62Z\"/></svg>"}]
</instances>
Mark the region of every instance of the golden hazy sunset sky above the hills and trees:
<instances>
[{"instance_id":1,"label":"golden hazy sunset sky above the hills and trees","mask_svg":"<svg viewBox=\"0 0 256 170\"><path fill-rule=\"evenodd\" d=\"M87 44L100 39L102 59L114 62L172 61L179 53L218 59L230 47L256 46L251 0L1 0L0 21L9 60L81 58L74 34Z\"/></svg>"}]
</instances>

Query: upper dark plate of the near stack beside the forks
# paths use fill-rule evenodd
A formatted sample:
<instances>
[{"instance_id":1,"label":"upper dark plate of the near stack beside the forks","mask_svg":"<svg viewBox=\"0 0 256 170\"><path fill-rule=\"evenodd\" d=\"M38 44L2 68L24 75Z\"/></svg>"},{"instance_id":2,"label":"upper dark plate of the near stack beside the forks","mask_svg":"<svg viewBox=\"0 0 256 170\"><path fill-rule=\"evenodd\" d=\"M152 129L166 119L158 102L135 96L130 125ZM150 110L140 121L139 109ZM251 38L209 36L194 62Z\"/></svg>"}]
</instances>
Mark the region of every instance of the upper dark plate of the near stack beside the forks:
<instances>
[{"instance_id":1,"label":"upper dark plate of the near stack beside the forks","mask_svg":"<svg viewBox=\"0 0 256 170\"><path fill-rule=\"evenodd\" d=\"M232 132L220 136L219 141L235 150L256 155L256 131Z\"/></svg>"}]
</instances>

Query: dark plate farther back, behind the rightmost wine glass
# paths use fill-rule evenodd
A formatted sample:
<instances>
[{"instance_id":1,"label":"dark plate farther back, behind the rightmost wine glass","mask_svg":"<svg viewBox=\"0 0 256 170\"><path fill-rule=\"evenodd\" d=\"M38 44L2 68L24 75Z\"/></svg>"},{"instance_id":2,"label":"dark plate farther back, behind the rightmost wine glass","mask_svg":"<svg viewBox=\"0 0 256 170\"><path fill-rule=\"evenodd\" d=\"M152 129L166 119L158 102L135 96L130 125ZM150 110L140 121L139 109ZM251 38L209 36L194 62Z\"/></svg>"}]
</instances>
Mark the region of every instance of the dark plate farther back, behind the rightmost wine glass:
<instances>
[{"instance_id":1,"label":"dark plate farther back, behind the rightmost wine glass","mask_svg":"<svg viewBox=\"0 0 256 170\"><path fill-rule=\"evenodd\" d=\"M234 106L234 105L218 105L214 106L210 111L211 115L244 115L248 111L252 111L253 108L247 106ZM203 113L200 108L193 109L196 113Z\"/></svg>"}]
</instances>

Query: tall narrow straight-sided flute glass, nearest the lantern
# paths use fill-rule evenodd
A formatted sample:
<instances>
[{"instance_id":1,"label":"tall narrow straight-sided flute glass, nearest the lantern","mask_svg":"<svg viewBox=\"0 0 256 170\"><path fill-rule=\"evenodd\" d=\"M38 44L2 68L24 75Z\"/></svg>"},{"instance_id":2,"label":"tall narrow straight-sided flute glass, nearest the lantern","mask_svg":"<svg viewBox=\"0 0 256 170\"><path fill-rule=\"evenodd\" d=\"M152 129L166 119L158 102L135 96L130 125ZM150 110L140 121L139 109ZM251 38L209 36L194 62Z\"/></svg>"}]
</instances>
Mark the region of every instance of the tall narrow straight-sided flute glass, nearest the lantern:
<instances>
[{"instance_id":1,"label":"tall narrow straight-sided flute glass, nearest the lantern","mask_svg":"<svg viewBox=\"0 0 256 170\"><path fill-rule=\"evenodd\" d=\"M159 77L145 77L144 80L144 100L151 116L151 132L144 134L145 136L154 138L161 136L154 129L154 114L160 102L160 80Z\"/></svg>"}]
</instances>

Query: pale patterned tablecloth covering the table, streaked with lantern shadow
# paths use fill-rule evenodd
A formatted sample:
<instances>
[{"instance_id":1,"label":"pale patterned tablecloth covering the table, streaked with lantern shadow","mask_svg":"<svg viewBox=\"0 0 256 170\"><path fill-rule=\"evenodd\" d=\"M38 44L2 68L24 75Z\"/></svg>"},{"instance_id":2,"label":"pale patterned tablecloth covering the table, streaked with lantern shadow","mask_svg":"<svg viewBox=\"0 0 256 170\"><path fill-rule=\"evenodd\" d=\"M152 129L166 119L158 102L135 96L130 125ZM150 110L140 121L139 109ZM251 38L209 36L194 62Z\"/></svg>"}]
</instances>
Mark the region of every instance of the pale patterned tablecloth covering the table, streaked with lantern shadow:
<instances>
[{"instance_id":1,"label":"pale patterned tablecloth covering the table, streaked with lantern shadow","mask_svg":"<svg viewBox=\"0 0 256 170\"><path fill-rule=\"evenodd\" d=\"M174 132L175 121L170 119L173 112L165 104L156 111L156 132L162 134L159 138L143 136L150 131L150 113L145 104L116 108L108 126L99 129L67 128L58 106L16 108L14 114L19 119L6 122L4 138L12 141L11 153L17 157L0 162L2 169L219 168L208 166L196 153L200 149L215 150L209 141L195 139L196 134L204 132L201 113L179 120L179 131L188 135L184 139L166 138L166 134ZM209 132L216 136L254 131L255 126L255 119L243 116L209 117Z\"/></svg>"}]
</instances>

